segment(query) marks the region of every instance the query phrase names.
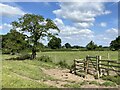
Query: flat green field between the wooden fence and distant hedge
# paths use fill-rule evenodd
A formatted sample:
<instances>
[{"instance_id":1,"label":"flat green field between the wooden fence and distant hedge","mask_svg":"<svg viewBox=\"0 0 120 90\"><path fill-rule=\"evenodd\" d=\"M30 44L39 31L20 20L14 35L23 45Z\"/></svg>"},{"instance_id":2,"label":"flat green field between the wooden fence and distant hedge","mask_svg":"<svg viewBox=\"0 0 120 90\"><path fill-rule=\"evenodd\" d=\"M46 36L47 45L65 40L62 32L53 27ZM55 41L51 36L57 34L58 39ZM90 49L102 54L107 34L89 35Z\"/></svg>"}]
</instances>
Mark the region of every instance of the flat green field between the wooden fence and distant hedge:
<instances>
[{"instance_id":1,"label":"flat green field between the wooden fence and distant hedge","mask_svg":"<svg viewBox=\"0 0 120 90\"><path fill-rule=\"evenodd\" d=\"M68 64L72 64L74 59L84 59L87 55L96 56L101 55L102 59L107 59L109 53L110 59L118 60L117 51L56 51L56 52L38 52L37 57L42 55L48 55L52 58L53 62L66 61Z\"/></svg>"}]
</instances>

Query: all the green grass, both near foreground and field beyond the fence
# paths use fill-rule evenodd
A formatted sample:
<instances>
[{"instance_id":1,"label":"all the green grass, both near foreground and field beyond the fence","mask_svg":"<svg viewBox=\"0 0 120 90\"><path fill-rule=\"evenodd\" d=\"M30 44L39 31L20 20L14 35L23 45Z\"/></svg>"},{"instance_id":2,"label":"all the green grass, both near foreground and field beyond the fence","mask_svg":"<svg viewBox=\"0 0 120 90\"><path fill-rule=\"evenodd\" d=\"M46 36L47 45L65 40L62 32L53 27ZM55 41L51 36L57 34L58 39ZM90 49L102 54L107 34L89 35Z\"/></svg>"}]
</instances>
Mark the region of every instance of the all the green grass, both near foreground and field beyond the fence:
<instances>
[{"instance_id":1,"label":"all the green grass, both near foreground and field beyond the fence","mask_svg":"<svg viewBox=\"0 0 120 90\"><path fill-rule=\"evenodd\" d=\"M107 59L109 53L110 58L117 60L117 51L76 51L76 52L38 52L37 57L42 55L50 56L54 63L65 60L68 64L72 64L74 59L85 58L86 55L101 55ZM55 80L53 77L42 72L41 68L55 68L53 63L45 63L37 60L5 60L16 55L2 55L2 87L3 88L44 88L53 87L42 83L45 80ZM21 77L22 76L22 77ZM28 78L26 78L28 77ZM33 81L39 80L39 82Z\"/></svg>"}]
</instances>

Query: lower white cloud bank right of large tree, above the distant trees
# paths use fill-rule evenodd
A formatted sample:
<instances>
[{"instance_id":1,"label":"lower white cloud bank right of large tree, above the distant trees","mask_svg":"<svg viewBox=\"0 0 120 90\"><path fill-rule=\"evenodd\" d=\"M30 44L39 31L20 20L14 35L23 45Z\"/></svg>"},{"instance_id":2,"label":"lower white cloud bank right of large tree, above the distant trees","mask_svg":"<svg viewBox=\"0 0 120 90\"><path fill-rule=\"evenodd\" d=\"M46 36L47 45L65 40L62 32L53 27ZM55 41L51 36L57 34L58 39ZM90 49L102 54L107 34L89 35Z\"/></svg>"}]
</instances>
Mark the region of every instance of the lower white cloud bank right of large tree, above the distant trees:
<instances>
[{"instance_id":1,"label":"lower white cloud bank right of large tree, above the distant trees","mask_svg":"<svg viewBox=\"0 0 120 90\"><path fill-rule=\"evenodd\" d=\"M60 38L62 39L62 44L66 42L73 44L82 43L81 45L85 45L88 41L92 40L94 37L94 32L90 29L81 28L65 25L62 19L56 18L54 19L55 24L58 26L60 31ZM75 43L76 41L79 41Z\"/></svg>"}]
</instances>

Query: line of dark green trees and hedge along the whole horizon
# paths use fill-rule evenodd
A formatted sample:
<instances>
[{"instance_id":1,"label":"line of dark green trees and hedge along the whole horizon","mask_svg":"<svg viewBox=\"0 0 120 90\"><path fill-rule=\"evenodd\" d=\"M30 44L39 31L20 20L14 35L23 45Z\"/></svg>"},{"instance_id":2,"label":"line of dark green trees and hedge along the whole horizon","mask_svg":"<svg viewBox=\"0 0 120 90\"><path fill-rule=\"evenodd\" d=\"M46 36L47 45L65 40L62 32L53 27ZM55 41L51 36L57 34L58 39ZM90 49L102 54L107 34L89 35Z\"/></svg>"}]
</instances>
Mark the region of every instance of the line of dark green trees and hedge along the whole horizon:
<instances>
[{"instance_id":1,"label":"line of dark green trees and hedge along the whole horizon","mask_svg":"<svg viewBox=\"0 0 120 90\"><path fill-rule=\"evenodd\" d=\"M15 54L20 53L23 50L31 50L32 43L30 39L28 39L27 35L20 33L16 30L10 30L9 33L2 36L2 52L4 54ZM90 41L85 47L79 45L70 45L70 43L65 43L63 46L61 45L61 39L58 37L52 37L48 42L48 45L37 42L36 51L42 51L46 49L64 49L64 50L120 50L120 36L118 36L115 40L111 41L110 46L102 46L97 45L93 41Z\"/></svg>"}]
</instances>

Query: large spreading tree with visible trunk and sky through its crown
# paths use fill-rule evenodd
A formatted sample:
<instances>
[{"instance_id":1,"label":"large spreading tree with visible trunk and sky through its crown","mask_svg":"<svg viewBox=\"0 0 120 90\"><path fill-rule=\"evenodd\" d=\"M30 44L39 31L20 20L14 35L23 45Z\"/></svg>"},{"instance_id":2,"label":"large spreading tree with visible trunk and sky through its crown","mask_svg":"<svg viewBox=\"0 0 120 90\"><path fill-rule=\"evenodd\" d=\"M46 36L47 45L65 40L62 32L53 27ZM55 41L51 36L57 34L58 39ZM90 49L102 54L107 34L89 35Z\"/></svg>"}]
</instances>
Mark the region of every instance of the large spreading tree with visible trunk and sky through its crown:
<instances>
[{"instance_id":1,"label":"large spreading tree with visible trunk and sky through its crown","mask_svg":"<svg viewBox=\"0 0 120 90\"><path fill-rule=\"evenodd\" d=\"M33 43L31 59L36 57L36 46L39 39L43 37L52 37L56 33L51 33L50 29L59 31L56 24L51 19L45 19L40 15L25 14L18 21L12 22L13 28L19 28L20 31L29 32Z\"/></svg>"}]
</instances>

